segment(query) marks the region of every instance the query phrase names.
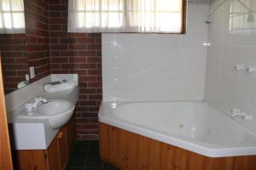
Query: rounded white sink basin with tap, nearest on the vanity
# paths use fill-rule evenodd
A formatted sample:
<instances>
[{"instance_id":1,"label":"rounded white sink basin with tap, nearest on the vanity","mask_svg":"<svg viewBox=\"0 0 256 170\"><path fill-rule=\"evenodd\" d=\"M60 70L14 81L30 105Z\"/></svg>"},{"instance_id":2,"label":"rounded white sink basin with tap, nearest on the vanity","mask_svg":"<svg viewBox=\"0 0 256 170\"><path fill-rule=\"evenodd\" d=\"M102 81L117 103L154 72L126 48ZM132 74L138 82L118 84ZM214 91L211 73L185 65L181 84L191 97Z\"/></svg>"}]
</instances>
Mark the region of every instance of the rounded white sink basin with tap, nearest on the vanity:
<instances>
[{"instance_id":1,"label":"rounded white sink basin with tap, nearest on the vanity","mask_svg":"<svg viewBox=\"0 0 256 170\"><path fill-rule=\"evenodd\" d=\"M19 118L48 119L49 126L53 129L62 127L73 115L74 105L66 100L49 100L46 104L39 105L33 115L22 114Z\"/></svg>"}]
</instances>

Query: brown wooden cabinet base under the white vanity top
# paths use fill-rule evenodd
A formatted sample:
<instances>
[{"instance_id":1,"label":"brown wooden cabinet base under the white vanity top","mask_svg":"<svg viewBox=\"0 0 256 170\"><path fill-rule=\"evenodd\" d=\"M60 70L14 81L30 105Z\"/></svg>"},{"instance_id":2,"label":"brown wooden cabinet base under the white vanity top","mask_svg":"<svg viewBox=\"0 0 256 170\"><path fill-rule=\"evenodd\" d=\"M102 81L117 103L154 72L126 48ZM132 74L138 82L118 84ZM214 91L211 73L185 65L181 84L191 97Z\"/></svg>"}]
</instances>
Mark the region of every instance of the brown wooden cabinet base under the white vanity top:
<instances>
[{"instance_id":1,"label":"brown wooden cabinet base under the white vanity top","mask_svg":"<svg viewBox=\"0 0 256 170\"><path fill-rule=\"evenodd\" d=\"M64 170L75 143L75 114L58 131L46 150L13 150L15 169Z\"/></svg>"}]
</instances>

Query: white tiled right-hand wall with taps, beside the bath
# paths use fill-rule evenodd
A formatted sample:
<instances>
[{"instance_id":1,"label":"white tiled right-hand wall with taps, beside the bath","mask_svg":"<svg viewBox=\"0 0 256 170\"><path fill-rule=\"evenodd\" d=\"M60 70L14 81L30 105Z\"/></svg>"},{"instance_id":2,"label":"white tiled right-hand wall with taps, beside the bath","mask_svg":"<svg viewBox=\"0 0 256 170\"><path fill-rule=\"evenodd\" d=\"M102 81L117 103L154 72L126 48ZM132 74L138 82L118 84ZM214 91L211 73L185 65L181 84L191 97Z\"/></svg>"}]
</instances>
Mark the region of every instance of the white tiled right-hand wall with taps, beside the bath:
<instances>
[{"instance_id":1,"label":"white tiled right-hand wall with taps, beside the bath","mask_svg":"<svg viewBox=\"0 0 256 170\"><path fill-rule=\"evenodd\" d=\"M212 8L216 3L218 1L212 4ZM253 114L254 121L246 124L256 130L256 74L248 75L246 71L233 68L236 64L256 65L256 31L253 29L256 15L254 22L249 23L252 27L248 27L247 16L236 14L240 18L231 19L232 22L238 21L234 28L234 25L230 26L231 3L236 3L236 0L227 0L212 14L208 37L212 46L207 54L205 99L227 114L232 108ZM241 117L237 121L242 122Z\"/></svg>"}]
</instances>

